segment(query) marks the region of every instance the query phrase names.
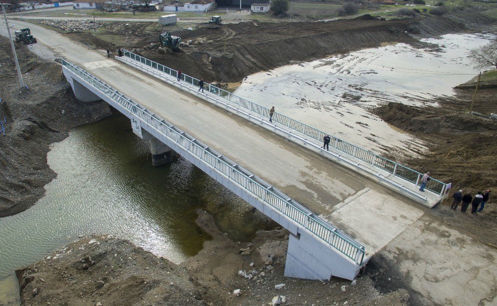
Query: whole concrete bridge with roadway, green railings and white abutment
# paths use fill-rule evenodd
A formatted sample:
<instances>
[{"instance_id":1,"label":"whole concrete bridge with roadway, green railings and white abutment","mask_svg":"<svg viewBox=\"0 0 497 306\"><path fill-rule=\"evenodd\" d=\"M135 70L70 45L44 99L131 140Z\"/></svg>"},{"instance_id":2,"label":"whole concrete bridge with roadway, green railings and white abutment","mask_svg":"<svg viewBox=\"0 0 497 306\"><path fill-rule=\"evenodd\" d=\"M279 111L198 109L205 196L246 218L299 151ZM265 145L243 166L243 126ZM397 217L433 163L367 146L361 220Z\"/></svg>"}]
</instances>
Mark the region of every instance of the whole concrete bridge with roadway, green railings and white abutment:
<instances>
[{"instance_id":1,"label":"whole concrete bridge with roadway, green railings and white abutment","mask_svg":"<svg viewBox=\"0 0 497 306\"><path fill-rule=\"evenodd\" d=\"M324 151L324 132L282 114L271 123L266 108L208 84L198 93L198 80L177 82L131 52L118 60L134 68L63 60L63 72L79 100L104 100L130 118L154 165L172 150L288 229L285 276L354 279L444 192L436 180L418 192L419 173L341 139Z\"/></svg>"}]
</instances>

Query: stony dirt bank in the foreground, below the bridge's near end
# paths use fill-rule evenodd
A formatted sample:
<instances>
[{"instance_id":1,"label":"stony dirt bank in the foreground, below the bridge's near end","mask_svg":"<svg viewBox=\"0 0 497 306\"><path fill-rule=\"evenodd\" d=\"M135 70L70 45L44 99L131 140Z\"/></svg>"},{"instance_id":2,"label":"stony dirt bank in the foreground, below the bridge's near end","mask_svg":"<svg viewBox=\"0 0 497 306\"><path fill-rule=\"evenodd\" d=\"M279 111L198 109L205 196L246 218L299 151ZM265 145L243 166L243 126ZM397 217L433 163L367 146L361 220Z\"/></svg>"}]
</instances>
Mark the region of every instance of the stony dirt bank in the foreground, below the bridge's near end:
<instances>
[{"instance_id":1,"label":"stony dirt bank in the foreground, below the bridge's near end","mask_svg":"<svg viewBox=\"0 0 497 306\"><path fill-rule=\"evenodd\" d=\"M198 213L197 223L213 239L186 262L172 264L109 236L83 238L16 271L22 304L268 305L276 296L284 297L281 305L409 303L409 294L399 286L375 289L375 274L363 274L353 283L285 278L286 230L258 231L253 242L234 242L217 229L211 215Z\"/></svg>"}]
</instances>

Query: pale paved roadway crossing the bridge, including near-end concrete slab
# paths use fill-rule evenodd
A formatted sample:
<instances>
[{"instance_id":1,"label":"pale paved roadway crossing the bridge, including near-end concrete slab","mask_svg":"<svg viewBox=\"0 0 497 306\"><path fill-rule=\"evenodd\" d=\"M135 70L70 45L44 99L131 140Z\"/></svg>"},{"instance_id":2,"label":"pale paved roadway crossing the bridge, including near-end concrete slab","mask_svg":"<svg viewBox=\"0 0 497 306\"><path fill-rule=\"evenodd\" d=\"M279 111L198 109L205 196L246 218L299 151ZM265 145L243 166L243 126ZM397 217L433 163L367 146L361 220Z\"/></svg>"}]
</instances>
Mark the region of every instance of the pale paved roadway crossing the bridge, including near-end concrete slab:
<instances>
[{"instance_id":1,"label":"pale paved roadway crossing the bridge, including near-end concrete slab","mask_svg":"<svg viewBox=\"0 0 497 306\"><path fill-rule=\"evenodd\" d=\"M43 47L84 67L136 102L239 163L315 213L327 216L373 253L402 232L424 207L324 157L210 103L166 86L54 31L18 21ZM46 49L43 51L46 54ZM388 228L388 231L383 230Z\"/></svg>"}]
</instances>

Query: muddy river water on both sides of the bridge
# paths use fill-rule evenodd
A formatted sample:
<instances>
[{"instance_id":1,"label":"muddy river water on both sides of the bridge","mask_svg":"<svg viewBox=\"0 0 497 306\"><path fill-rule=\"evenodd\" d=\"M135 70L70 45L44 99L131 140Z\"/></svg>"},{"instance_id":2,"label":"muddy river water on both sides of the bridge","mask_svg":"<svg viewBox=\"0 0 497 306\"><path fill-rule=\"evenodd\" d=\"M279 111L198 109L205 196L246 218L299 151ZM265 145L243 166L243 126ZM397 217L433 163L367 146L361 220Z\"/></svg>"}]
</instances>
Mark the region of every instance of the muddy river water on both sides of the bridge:
<instances>
[{"instance_id":1,"label":"muddy river water on both sides of the bridge","mask_svg":"<svg viewBox=\"0 0 497 306\"><path fill-rule=\"evenodd\" d=\"M476 73L465 53L488 38L452 34L429 40L440 44L437 51L397 44L285 66L249 76L237 93L368 149L381 151L388 143L422 150L423 143L393 130L368 107L452 95L453 86ZM46 196L0 218L0 305L18 304L15 269L81 235L113 234L179 263L209 239L195 224L197 208L214 214L237 240L274 226L185 160L153 167L149 152L120 114L76 128L52 145L48 163L58 176Z\"/></svg>"}]
</instances>

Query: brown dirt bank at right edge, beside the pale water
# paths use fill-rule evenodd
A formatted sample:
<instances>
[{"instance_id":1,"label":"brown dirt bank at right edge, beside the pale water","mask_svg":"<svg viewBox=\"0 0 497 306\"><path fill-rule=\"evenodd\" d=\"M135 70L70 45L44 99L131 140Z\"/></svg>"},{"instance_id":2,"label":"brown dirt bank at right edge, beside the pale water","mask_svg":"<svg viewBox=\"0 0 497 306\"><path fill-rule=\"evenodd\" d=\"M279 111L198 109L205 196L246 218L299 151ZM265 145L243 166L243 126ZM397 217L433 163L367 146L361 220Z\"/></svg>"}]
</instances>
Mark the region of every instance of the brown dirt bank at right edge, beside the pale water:
<instances>
[{"instance_id":1,"label":"brown dirt bank at right edge, beside the pale water","mask_svg":"<svg viewBox=\"0 0 497 306\"><path fill-rule=\"evenodd\" d=\"M389 103L374 112L386 122L431 143L423 156L404 161L409 166L452 182L453 191L463 189L474 195L487 189L497 190L497 122L468 114L473 89L456 92L454 98L438 99L441 107ZM497 90L479 91L473 110L486 115L496 112Z\"/></svg>"}]
</instances>

